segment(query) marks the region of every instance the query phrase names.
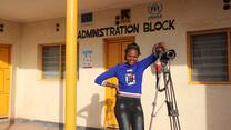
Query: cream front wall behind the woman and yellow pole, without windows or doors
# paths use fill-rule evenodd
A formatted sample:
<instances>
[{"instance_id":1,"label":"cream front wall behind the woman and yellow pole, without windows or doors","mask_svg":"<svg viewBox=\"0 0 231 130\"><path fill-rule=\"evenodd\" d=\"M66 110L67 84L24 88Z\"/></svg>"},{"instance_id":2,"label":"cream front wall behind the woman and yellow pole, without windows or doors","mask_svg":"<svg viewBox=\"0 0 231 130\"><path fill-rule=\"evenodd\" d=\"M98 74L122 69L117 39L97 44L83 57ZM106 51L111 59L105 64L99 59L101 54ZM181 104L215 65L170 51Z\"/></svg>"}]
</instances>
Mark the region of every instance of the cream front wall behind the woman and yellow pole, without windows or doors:
<instances>
[{"instance_id":1,"label":"cream front wall behind the woman and yellow pole, without windows or doors","mask_svg":"<svg viewBox=\"0 0 231 130\"><path fill-rule=\"evenodd\" d=\"M172 79L177 94L182 129L187 130L228 130L231 124L229 117L231 98L230 84L189 84L187 67L187 32L231 27L231 12L223 10L222 1L218 0L177 0L162 1L162 18L153 22L174 19L175 30L140 32L134 34L141 46L141 57L151 53L154 43L163 41L167 48L177 51L177 58L171 66ZM148 21L148 4L131 7L131 23ZM94 21L81 29L114 27L114 17L120 9L94 12ZM56 31L56 23L60 23L60 31ZM43 80L40 78L38 46L64 42L64 18L38 21L24 24L9 23L13 30L1 36L0 41L13 46L12 60L12 97L14 117L43 120L52 122L64 121L64 80ZM12 34L13 33L13 34ZM12 38L13 37L13 38ZM112 37L112 36L111 36ZM121 36L116 36L121 37ZM94 84L94 78L103 69L103 38L79 39L79 80L77 88L77 124L88 127L103 127L104 89ZM93 68L82 68L82 54L86 49L92 50ZM20 54L18 54L20 53ZM89 74L91 73L91 74ZM155 90L155 76L148 68L143 76L142 106L145 117L145 129L152 111ZM158 108L163 102L164 94L159 94ZM83 116L82 116L83 114ZM170 129L165 104L154 118L153 129Z\"/></svg>"}]
</instances>

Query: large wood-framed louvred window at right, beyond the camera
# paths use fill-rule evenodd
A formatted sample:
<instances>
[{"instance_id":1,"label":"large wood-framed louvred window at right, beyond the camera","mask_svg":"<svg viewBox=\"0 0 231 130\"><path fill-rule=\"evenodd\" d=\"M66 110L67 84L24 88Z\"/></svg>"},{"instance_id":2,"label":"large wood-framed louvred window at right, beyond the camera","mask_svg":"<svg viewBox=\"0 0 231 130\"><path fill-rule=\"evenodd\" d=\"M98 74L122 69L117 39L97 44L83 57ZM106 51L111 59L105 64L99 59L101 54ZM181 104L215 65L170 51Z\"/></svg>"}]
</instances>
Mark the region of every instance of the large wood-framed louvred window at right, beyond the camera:
<instances>
[{"instance_id":1,"label":"large wood-framed louvred window at right, beyond the camera","mask_svg":"<svg viewBox=\"0 0 231 130\"><path fill-rule=\"evenodd\" d=\"M230 30L188 32L190 81L230 83Z\"/></svg>"}]
</instances>

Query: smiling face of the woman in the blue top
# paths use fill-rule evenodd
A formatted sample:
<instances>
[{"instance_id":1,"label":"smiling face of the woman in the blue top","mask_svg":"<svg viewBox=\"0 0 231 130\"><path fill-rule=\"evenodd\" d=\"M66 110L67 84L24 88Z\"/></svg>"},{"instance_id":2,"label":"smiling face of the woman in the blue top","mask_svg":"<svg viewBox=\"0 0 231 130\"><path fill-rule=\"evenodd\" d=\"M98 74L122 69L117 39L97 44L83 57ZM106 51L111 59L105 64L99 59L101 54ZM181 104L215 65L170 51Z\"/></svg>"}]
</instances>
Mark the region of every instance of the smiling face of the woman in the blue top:
<instances>
[{"instance_id":1,"label":"smiling face of the woman in the blue top","mask_svg":"<svg viewBox=\"0 0 231 130\"><path fill-rule=\"evenodd\" d=\"M128 64L132 66L138 61L139 53L135 49L130 49L127 53L125 60Z\"/></svg>"}]
</instances>

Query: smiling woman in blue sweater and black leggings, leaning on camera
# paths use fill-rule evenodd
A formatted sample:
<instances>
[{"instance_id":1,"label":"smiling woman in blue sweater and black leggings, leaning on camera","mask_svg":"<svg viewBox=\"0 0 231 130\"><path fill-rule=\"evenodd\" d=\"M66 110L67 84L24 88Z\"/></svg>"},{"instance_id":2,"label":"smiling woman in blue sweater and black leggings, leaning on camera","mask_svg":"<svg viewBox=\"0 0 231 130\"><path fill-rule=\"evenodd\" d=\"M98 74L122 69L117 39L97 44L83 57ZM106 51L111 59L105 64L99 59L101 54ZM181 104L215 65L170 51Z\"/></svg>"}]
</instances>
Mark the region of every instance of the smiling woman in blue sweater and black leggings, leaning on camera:
<instances>
[{"instance_id":1,"label":"smiling woman in blue sweater and black leggings, leaning on camera","mask_svg":"<svg viewBox=\"0 0 231 130\"><path fill-rule=\"evenodd\" d=\"M104 87L116 88L117 102L114 113L120 130L144 130L143 110L140 101L143 71L153 63L158 56L155 53L138 61L140 48L137 43L130 43L125 49L125 63L112 67L96 79L96 83ZM119 86L107 82L111 77L117 77Z\"/></svg>"}]
</instances>

